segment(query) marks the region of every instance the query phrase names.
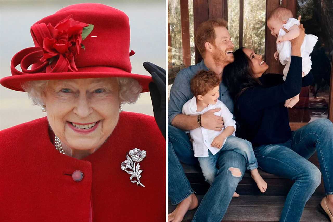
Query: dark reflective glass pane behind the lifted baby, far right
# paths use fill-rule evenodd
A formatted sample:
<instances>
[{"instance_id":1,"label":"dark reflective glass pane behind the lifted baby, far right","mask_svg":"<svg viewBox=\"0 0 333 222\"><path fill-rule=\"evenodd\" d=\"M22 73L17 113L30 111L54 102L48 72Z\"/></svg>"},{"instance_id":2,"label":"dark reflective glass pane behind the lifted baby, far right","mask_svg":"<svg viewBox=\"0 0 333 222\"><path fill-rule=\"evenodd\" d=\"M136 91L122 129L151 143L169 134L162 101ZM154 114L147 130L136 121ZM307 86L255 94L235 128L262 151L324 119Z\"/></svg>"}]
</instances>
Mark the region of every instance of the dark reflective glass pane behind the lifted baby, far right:
<instances>
[{"instance_id":1,"label":"dark reflective glass pane behind the lifted baby, far right","mask_svg":"<svg viewBox=\"0 0 333 222\"><path fill-rule=\"evenodd\" d=\"M300 101L289 109L289 120L292 122L311 122L318 118L327 118L329 102L329 84L331 76L331 55L333 47L329 43L329 30L325 22L328 14L322 13L320 5L313 0L298 0L297 15L301 15L301 23L306 34L318 37L311 56L311 73L314 82L311 86L303 87ZM331 16L331 15L330 15ZM331 30L332 31L332 30Z\"/></svg>"}]
</instances>

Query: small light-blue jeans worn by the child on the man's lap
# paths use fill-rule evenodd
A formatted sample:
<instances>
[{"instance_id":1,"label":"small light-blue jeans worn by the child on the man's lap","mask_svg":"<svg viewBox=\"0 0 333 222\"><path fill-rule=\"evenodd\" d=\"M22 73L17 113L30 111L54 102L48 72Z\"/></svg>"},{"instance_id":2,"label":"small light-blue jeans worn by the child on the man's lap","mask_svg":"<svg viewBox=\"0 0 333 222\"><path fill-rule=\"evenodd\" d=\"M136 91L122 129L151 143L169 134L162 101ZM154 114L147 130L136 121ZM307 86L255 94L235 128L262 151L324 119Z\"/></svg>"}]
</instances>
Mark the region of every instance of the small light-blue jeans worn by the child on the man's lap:
<instances>
[{"instance_id":1,"label":"small light-blue jeans worn by the child on the man's lap","mask_svg":"<svg viewBox=\"0 0 333 222\"><path fill-rule=\"evenodd\" d=\"M215 155L213 155L208 150L208 155L209 155L208 157L198 157L202 174L205 177L205 180L209 184L212 184L214 178L216 177L216 172L217 172L216 163L219 156L223 155L223 152L221 151L228 151L228 150L232 150L236 153L239 153L245 158L246 169L254 170L258 168L257 159L255 158L252 149L252 144L247 140L243 140L235 136L229 136L227 137L222 148Z\"/></svg>"}]
</instances>

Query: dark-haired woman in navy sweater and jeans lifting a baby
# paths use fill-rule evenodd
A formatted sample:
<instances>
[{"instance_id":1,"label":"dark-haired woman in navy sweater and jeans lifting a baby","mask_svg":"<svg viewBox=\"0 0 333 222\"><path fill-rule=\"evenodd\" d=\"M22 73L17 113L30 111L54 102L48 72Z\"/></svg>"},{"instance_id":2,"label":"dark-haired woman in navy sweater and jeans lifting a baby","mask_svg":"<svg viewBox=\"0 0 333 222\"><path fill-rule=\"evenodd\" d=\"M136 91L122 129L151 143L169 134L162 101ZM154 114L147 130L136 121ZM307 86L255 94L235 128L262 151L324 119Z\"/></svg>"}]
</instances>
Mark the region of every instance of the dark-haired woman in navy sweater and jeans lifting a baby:
<instances>
[{"instance_id":1,"label":"dark-haired woman in navy sweater and jeans lifting a baby","mask_svg":"<svg viewBox=\"0 0 333 222\"><path fill-rule=\"evenodd\" d=\"M321 182L321 172L327 196L320 204L333 221L333 124L320 119L292 132L284 106L286 99L300 93L301 86L308 86L313 80L312 75L302 78L300 48L304 36L300 25L299 37L291 40L291 64L285 81L283 75L263 75L268 64L248 48L235 51L235 61L223 70L223 81L235 99L239 136L252 143L259 166L295 180L280 221L300 220L306 202ZM316 150L321 172L307 160Z\"/></svg>"}]
</instances>

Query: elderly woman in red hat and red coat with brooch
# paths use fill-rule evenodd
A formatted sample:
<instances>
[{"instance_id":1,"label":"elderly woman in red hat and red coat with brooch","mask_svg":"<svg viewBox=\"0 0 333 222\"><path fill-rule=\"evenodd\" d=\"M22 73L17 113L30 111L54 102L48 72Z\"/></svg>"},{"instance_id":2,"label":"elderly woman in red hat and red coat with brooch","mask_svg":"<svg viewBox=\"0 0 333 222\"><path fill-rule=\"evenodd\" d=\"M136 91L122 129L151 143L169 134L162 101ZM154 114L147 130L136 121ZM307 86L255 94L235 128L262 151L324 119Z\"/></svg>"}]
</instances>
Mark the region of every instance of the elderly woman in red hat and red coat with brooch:
<instances>
[{"instance_id":1,"label":"elderly woman in red hat and red coat with brooch","mask_svg":"<svg viewBox=\"0 0 333 222\"><path fill-rule=\"evenodd\" d=\"M158 87L131 73L127 15L72 5L31 34L35 47L13 57L13 76L0 83L26 91L47 117L0 131L1 221L164 221L165 139L154 117L121 104L159 94L165 75L144 64Z\"/></svg>"}]
</instances>

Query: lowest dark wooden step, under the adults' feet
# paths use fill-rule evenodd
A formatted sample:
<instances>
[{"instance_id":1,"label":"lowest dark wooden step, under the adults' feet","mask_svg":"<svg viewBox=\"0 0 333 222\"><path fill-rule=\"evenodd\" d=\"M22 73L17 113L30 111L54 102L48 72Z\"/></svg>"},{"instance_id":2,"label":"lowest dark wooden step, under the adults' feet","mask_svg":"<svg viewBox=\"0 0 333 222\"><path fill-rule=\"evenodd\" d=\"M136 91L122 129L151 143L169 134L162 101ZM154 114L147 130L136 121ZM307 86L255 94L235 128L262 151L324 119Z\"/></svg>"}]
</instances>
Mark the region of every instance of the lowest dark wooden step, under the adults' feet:
<instances>
[{"instance_id":1,"label":"lowest dark wooden step, under the adults' feet","mask_svg":"<svg viewBox=\"0 0 333 222\"><path fill-rule=\"evenodd\" d=\"M199 203L203 195L197 195ZM322 197L311 197L306 203L301 222L329 222L328 217L320 208ZM229 207L223 217L223 221L279 221L285 197L282 196L240 196L232 198ZM168 201L168 213L176 206ZM196 209L186 213L183 222L190 222Z\"/></svg>"}]
</instances>

